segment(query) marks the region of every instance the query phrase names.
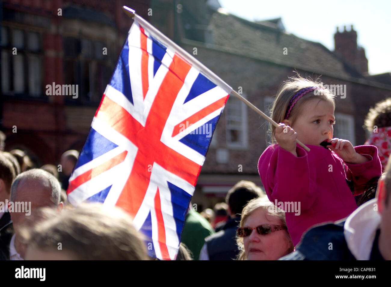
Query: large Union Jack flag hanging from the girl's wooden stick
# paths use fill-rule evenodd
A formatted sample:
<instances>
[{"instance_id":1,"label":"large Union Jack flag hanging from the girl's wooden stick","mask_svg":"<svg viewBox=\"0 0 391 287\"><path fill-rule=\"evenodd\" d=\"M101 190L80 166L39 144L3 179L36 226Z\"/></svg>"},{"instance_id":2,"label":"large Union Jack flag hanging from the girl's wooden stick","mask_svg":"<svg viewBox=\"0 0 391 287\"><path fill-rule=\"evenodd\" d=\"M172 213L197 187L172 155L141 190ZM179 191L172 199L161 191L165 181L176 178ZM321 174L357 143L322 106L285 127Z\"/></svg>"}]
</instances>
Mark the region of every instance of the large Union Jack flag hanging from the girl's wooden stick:
<instances>
[{"instance_id":1,"label":"large Union Jack flag hanging from the girl's wooden stick","mask_svg":"<svg viewBox=\"0 0 391 287\"><path fill-rule=\"evenodd\" d=\"M230 89L143 21L129 30L67 194L75 205L122 207L147 238L149 255L174 260L212 139L197 131L214 131Z\"/></svg>"}]
</instances>

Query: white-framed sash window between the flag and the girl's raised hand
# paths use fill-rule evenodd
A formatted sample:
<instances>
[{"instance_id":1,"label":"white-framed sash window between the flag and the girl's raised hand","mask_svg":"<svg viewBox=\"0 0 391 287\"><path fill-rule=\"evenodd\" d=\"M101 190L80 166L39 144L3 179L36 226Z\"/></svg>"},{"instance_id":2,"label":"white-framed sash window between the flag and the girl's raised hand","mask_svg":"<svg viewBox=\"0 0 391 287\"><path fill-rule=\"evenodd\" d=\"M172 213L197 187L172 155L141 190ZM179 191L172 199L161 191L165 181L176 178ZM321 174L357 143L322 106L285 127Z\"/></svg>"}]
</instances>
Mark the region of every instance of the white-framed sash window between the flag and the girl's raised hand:
<instances>
[{"instance_id":1,"label":"white-framed sash window between the flag and the girl's raised hand","mask_svg":"<svg viewBox=\"0 0 391 287\"><path fill-rule=\"evenodd\" d=\"M242 94L244 98L246 96ZM226 104L226 141L229 148L247 148L247 109L235 96L230 96Z\"/></svg>"}]
</instances>

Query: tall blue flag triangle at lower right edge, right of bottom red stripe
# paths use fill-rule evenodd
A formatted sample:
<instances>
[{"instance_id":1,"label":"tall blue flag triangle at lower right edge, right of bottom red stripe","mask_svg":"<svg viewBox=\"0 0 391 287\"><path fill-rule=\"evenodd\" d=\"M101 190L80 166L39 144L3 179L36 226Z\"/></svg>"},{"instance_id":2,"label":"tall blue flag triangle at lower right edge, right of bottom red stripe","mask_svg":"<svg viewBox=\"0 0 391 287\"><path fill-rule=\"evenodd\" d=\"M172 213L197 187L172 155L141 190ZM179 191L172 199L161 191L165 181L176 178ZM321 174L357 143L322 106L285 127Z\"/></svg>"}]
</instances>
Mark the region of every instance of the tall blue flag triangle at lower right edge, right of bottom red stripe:
<instances>
[{"instance_id":1,"label":"tall blue flag triangle at lower right edge, right of bottom red stripe","mask_svg":"<svg viewBox=\"0 0 391 287\"><path fill-rule=\"evenodd\" d=\"M181 238L181 232L183 229L183 224L185 222L186 212L192 196L183 189L170 182L167 182L167 184L169 185L171 193L171 203L173 211L172 215L176 224L176 232L178 234L178 238Z\"/></svg>"}]
</instances>

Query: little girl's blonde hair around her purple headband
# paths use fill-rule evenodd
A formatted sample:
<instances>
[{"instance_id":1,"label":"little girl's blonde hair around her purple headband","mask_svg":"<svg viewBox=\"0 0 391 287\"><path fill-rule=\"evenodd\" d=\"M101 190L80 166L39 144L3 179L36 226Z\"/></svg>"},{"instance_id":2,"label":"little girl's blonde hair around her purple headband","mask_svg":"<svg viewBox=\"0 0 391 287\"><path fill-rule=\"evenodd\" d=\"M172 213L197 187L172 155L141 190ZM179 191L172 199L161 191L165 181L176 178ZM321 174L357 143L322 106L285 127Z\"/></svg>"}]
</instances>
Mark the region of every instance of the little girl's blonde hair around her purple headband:
<instances>
[{"instance_id":1,"label":"little girl's blonde hair around her purple headband","mask_svg":"<svg viewBox=\"0 0 391 287\"><path fill-rule=\"evenodd\" d=\"M302 112L303 104L312 99L319 99L323 101L330 101L335 108L335 95L329 90L323 87L323 84L319 82L319 79L313 81L310 78L303 78L299 74L296 77L289 78L289 80L283 82L279 87L276 95L276 99L273 102L271 109L271 118L276 123L282 123L285 119L285 114L289 108L289 102L291 102L293 96L300 90L307 87L317 87L321 90L321 93L309 92L300 98L289 113L288 119L291 121L291 126L294 124L298 116ZM269 133L271 133L272 143L276 143L275 138L276 127L269 125Z\"/></svg>"}]
</instances>

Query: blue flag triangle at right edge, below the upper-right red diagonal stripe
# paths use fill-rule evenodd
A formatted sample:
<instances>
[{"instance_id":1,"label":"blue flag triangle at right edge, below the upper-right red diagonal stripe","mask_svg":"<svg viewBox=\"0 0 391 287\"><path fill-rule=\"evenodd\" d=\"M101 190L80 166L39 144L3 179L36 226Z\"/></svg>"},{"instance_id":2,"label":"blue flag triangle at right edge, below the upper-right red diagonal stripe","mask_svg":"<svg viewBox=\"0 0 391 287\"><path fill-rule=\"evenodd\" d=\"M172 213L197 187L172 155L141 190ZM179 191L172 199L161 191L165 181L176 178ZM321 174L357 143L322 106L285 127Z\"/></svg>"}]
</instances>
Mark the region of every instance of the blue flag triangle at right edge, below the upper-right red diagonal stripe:
<instances>
[{"instance_id":1,"label":"blue flag triangle at right edge, below the upper-right red diagonal stripe","mask_svg":"<svg viewBox=\"0 0 391 287\"><path fill-rule=\"evenodd\" d=\"M206 124L196 128L179 141L181 143L186 144L193 150L196 150L197 152L201 153L201 155L206 155L210 140L212 139L213 131L218 120L219 116L211 119ZM209 134L206 134L206 132L208 132Z\"/></svg>"}]
</instances>

